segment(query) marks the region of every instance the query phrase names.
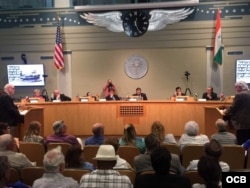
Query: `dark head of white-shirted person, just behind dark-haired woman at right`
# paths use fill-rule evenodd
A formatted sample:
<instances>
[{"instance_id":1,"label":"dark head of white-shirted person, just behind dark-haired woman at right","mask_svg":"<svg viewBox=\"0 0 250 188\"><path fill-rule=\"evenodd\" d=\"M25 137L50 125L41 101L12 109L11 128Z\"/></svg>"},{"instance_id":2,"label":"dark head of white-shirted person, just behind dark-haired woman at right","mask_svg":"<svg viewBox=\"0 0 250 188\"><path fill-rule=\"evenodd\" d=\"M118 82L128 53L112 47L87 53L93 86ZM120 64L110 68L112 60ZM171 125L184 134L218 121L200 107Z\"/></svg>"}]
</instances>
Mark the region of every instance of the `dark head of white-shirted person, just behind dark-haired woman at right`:
<instances>
[{"instance_id":1,"label":"dark head of white-shirted person, just behind dark-haired woman at right","mask_svg":"<svg viewBox=\"0 0 250 188\"><path fill-rule=\"evenodd\" d=\"M222 146L215 139L212 139L210 142L204 144L204 150L206 155L214 157L218 160L222 154Z\"/></svg>"}]
</instances>

